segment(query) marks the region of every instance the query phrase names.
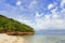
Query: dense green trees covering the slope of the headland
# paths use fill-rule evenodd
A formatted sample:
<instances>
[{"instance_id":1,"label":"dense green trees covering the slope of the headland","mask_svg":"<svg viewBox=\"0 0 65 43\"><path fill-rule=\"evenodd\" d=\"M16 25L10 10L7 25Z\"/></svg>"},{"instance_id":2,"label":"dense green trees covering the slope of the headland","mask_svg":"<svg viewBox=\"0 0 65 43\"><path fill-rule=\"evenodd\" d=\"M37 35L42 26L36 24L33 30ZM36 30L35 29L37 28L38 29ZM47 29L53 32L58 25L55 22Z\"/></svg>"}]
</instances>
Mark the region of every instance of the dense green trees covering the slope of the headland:
<instances>
[{"instance_id":1,"label":"dense green trees covering the slope of the headland","mask_svg":"<svg viewBox=\"0 0 65 43\"><path fill-rule=\"evenodd\" d=\"M13 18L8 18L3 15L0 15L0 32L6 31L35 32L35 30L31 27L18 23Z\"/></svg>"}]
</instances>

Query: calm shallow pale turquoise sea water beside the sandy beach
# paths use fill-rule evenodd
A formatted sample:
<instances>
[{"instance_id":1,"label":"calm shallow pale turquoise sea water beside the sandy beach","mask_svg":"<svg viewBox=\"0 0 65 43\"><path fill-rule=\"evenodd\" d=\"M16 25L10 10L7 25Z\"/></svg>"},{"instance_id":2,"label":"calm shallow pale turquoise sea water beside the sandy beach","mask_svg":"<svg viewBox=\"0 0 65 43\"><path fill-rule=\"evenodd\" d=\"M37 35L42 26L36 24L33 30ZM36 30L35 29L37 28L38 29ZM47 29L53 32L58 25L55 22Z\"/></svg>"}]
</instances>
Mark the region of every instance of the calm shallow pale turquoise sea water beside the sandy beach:
<instances>
[{"instance_id":1,"label":"calm shallow pale turquoise sea water beside the sandy beach","mask_svg":"<svg viewBox=\"0 0 65 43\"><path fill-rule=\"evenodd\" d=\"M24 43L65 43L65 34L22 35Z\"/></svg>"}]
</instances>

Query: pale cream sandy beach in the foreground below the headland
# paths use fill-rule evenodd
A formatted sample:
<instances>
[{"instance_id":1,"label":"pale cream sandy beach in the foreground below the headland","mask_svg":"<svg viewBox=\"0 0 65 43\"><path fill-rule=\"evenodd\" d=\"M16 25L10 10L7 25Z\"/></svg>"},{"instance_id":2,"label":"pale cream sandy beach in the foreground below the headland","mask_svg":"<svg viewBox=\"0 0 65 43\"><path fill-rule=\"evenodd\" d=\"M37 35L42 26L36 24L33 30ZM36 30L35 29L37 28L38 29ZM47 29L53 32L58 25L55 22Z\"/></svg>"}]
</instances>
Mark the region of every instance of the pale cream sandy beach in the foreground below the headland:
<instances>
[{"instance_id":1,"label":"pale cream sandy beach in the foreground below the headland","mask_svg":"<svg viewBox=\"0 0 65 43\"><path fill-rule=\"evenodd\" d=\"M0 33L0 43L24 43L24 39L22 37Z\"/></svg>"}]
</instances>

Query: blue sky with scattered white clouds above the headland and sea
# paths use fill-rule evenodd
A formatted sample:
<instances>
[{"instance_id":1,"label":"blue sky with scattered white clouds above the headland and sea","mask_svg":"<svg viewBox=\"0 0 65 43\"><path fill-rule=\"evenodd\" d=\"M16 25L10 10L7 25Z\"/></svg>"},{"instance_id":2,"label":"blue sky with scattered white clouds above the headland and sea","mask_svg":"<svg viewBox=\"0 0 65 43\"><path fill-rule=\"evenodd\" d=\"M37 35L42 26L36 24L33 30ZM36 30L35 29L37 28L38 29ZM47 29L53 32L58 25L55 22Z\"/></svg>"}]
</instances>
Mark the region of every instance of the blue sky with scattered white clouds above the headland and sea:
<instances>
[{"instance_id":1,"label":"blue sky with scattered white clouds above the headland and sea","mask_svg":"<svg viewBox=\"0 0 65 43\"><path fill-rule=\"evenodd\" d=\"M41 29L65 29L64 0L0 0L0 14Z\"/></svg>"}]
</instances>

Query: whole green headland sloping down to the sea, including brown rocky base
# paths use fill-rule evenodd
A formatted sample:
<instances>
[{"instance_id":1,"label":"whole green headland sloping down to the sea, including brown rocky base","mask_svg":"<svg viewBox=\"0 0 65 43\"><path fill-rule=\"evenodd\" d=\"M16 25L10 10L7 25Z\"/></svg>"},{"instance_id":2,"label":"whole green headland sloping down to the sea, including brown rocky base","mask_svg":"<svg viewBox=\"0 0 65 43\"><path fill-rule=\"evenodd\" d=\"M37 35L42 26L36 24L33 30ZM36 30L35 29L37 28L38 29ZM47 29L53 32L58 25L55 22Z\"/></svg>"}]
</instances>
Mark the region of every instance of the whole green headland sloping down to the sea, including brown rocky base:
<instances>
[{"instance_id":1,"label":"whole green headland sloping down to the sea, including brown rocky base","mask_svg":"<svg viewBox=\"0 0 65 43\"><path fill-rule=\"evenodd\" d=\"M34 28L18 23L13 18L8 18L3 15L0 15L0 33L6 33L10 35L24 35L24 34L34 34Z\"/></svg>"}]
</instances>

